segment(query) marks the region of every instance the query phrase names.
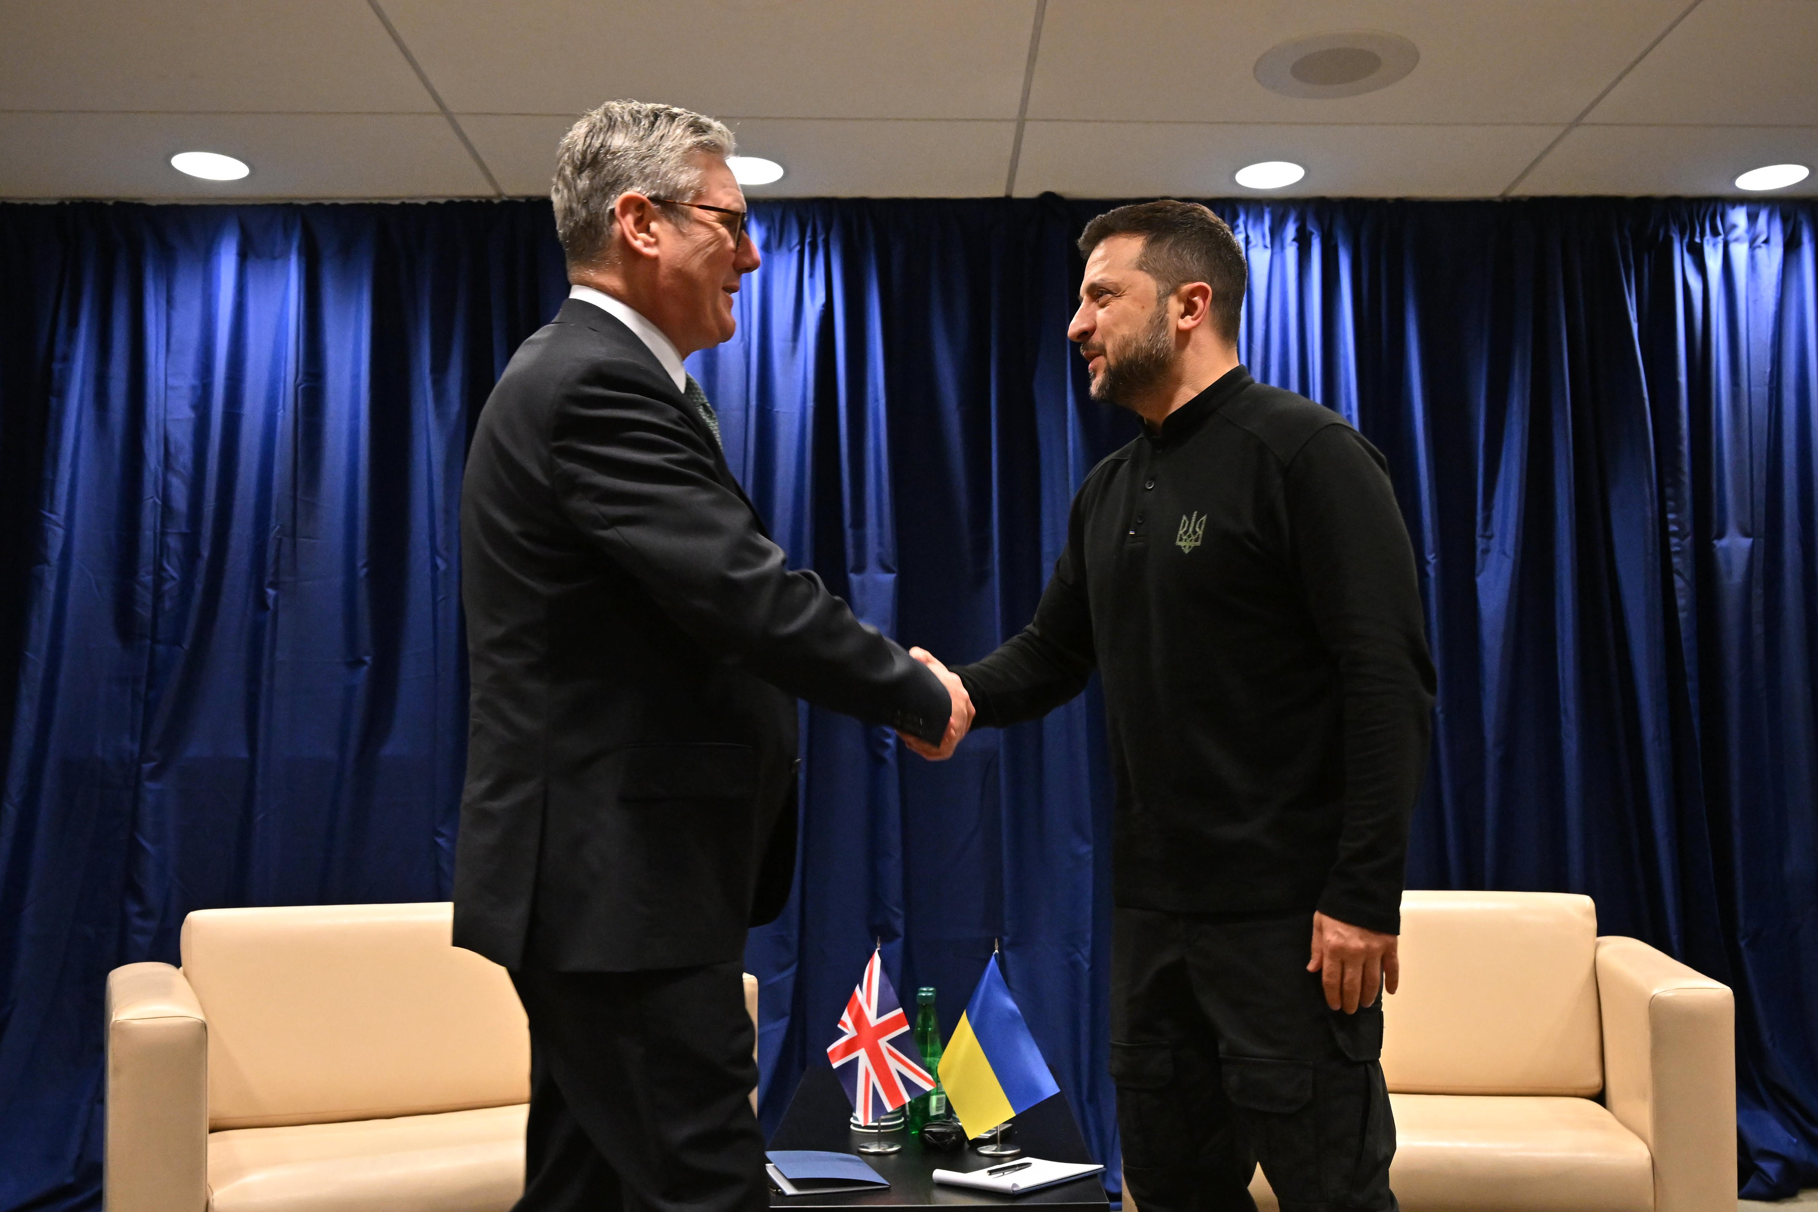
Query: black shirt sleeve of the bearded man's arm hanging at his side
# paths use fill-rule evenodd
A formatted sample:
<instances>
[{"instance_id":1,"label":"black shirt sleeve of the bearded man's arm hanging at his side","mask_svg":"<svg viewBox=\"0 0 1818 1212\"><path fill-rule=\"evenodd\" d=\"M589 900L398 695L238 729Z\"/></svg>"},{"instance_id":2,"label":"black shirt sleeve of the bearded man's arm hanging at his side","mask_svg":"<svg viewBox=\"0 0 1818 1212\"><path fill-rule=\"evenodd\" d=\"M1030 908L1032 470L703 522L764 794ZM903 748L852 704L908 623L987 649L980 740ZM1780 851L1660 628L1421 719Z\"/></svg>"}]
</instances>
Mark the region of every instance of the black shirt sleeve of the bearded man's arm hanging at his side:
<instances>
[{"instance_id":1,"label":"black shirt sleeve of the bearded man's arm hanging at his side","mask_svg":"<svg viewBox=\"0 0 1818 1212\"><path fill-rule=\"evenodd\" d=\"M1294 454L1284 507L1294 576L1344 703L1344 823L1318 909L1398 934L1434 696L1413 545L1385 460L1349 425L1327 425Z\"/></svg>"}]
</instances>

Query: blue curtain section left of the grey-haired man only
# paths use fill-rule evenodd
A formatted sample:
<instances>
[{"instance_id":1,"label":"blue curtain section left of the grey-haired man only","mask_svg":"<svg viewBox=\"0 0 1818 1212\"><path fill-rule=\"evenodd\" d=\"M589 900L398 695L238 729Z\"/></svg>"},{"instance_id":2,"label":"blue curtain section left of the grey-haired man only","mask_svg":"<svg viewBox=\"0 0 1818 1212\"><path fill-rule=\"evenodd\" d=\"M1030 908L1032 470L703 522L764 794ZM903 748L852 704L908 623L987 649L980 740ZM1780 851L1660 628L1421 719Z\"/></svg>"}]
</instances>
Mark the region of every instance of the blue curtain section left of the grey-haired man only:
<instances>
[{"instance_id":1,"label":"blue curtain section left of the grey-haired man only","mask_svg":"<svg viewBox=\"0 0 1818 1212\"><path fill-rule=\"evenodd\" d=\"M447 899L467 434L547 207L0 207L0 1207L98 1207L102 992Z\"/></svg>"}]
</instances>

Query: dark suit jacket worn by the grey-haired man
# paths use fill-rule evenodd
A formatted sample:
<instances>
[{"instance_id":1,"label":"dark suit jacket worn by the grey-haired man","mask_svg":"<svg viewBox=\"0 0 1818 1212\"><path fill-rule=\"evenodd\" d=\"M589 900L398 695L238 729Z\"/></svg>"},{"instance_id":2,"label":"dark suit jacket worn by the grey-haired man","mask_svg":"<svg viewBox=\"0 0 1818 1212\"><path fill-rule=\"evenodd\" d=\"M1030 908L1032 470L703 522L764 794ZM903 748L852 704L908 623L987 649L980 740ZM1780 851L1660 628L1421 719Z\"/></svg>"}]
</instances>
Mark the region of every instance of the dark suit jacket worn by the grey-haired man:
<instances>
[{"instance_id":1,"label":"dark suit jacket worn by the grey-haired man","mask_svg":"<svg viewBox=\"0 0 1818 1212\"><path fill-rule=\"evenodd\" d=\"M509 969L740 958L794 870L794 696L947 723L940 680L785 567L705 422L580 300L480 412L462 601L454 943Z\"/></svg>"}]
</instances>

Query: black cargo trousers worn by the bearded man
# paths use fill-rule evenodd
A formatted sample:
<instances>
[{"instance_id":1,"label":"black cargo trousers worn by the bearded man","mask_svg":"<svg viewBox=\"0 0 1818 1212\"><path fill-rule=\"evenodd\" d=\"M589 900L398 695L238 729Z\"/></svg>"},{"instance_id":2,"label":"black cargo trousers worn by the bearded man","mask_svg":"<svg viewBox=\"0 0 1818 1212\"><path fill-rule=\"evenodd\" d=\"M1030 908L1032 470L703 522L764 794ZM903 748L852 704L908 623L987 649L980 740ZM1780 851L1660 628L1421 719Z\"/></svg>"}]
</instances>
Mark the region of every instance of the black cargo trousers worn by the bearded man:
<instances>
[{"instance_id":1,"label":"black cargo trousers worn by the bearded man","mask_svg":"<svg viewBox=\"0 0 1818 1212\"><path fill-rule=\"evenodd\" d=\"M1313 914L1231 919L1116 909L1111 1079L1138 1212L1393 1212L1382 998L1329 1010Z\"/></svg>"}]
</instances>

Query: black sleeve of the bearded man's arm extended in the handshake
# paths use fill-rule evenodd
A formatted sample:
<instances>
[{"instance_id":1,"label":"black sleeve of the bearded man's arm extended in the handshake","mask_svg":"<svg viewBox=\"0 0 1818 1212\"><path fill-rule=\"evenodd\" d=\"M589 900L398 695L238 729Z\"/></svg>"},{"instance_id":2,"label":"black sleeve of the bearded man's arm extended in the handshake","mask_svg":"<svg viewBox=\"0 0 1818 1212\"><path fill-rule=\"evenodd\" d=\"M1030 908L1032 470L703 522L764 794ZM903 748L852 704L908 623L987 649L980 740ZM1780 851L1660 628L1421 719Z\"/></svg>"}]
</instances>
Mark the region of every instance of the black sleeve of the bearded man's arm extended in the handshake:
<instances>
[{"instance_id":1,"label":"black sleeve of the bearded man's arm extended in the handshake","mask_svg":"<svg viewBox=\"0 0 1818 1212\"><path fill-rule=\"evenodd\" d=\"M978 712L974 723L1002 729L1036 720L1085 689L1098 658L1085 596L1085 540L1080 500L1067 520L1067 547L1042 591L1034 620L996 652L954 669Z\"/></svg>"}]
</instances>

